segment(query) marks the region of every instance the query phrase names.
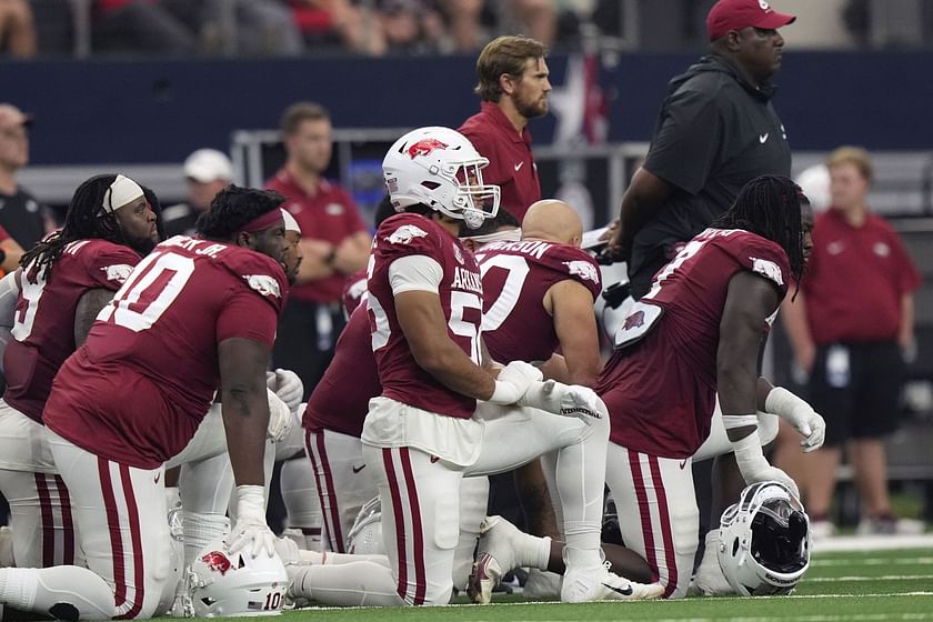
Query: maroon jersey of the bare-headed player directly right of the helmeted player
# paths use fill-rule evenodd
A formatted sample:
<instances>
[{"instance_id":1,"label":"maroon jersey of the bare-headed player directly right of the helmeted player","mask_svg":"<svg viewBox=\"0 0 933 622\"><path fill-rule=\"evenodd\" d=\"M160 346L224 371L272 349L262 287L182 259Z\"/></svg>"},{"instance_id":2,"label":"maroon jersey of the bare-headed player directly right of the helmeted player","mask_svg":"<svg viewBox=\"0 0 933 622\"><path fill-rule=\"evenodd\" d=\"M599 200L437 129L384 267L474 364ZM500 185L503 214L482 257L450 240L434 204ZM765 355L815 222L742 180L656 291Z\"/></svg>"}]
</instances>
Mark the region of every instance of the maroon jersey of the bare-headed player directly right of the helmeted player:
<instances>
[{"instance_id":1,"label":"maroon jersey of the bare-headed player directly right of the helmeted player","mask_svg":"<svg viewBox=\"0 0 933 622\"><path fill-rule=\"evenodd\" d=\"M579 281L601 291L600 270L588 253L540 240L494 242L476 252L483 274L483 341L494 361L546 361L558 349L544 294L554 283Z\"/></svg>"}]
</instances>

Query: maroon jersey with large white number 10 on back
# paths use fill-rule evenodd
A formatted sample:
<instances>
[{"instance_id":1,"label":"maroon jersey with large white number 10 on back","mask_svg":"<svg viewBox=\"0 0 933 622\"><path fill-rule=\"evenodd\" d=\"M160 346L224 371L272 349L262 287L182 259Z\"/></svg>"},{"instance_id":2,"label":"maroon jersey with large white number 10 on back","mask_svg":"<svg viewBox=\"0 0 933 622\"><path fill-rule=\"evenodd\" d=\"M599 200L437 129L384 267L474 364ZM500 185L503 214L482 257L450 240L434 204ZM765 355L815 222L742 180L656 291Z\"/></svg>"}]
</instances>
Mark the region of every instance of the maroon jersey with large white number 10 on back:
<instances>
[{"instance_id":1,"label":"maroon jersey with large white number 10 on back","mask_svg":"<svg viewBox=\"0 0 933 622\"><path fill-rule=\"evenodd\" d=\"M223 242L175 237L142 260L61 368L46 425L108 460L154 469L181 451L220 385L218 344L272 347L282 267Z\"/></svg>"}]
</instances>

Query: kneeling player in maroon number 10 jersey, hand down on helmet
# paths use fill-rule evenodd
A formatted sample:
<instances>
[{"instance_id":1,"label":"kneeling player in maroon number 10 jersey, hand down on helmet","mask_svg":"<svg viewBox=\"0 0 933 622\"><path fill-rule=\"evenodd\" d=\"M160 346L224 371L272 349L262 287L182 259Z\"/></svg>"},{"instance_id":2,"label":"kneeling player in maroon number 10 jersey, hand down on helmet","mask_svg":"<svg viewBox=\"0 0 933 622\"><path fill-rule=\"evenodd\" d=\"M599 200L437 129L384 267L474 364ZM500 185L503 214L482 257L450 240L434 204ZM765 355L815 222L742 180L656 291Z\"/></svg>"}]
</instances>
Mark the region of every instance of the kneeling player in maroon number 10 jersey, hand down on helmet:
<instances>
[{"instance_id":1,"label":"kneeling player in maroon number 10 jersey, hand down on helmet","mask_svg":"<svg viewBox=\"0 0 933 622\"><path fill-rule=\"evenodd\" d=\"M0 603L64 620L151 618L170 574L164 462L218 387L238 484L230 551L274 554L262 458L265 370L288 288L283 201L221 191L201 239L156 247L98 314L42 413L87 568L0 569Z\"/></svg>"}]
</instances>

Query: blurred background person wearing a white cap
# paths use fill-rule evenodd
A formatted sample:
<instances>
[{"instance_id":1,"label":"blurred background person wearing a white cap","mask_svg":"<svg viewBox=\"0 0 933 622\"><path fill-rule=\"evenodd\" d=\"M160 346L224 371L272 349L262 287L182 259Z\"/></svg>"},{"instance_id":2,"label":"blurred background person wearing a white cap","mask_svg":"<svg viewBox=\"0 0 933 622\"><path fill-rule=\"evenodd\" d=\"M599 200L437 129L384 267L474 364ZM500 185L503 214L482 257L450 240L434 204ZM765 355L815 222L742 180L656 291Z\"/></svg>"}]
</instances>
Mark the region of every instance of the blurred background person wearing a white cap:
<instances>
[{"instance_id":1,"label":"blurred background person wearing a white cap","mask_svg":"<svg viewBox=\"0 0 933 622\"><path fill-rule=\"evenodd\" d=\"M230 158L217 149L199 149L184 161L188 201L162 210L165 235L193 235L194 223L214 195L233 182Z\"/></svg>"}]
</instances>

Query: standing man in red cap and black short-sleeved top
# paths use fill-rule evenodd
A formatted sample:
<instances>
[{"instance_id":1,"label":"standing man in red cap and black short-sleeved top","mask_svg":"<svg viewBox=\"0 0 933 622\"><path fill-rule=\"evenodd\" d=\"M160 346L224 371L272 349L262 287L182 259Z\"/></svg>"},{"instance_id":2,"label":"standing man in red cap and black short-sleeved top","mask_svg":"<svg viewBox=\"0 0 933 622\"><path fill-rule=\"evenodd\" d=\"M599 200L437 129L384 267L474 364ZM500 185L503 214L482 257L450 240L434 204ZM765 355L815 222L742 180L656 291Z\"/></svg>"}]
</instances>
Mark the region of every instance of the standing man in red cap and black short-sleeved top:
<instances>
[{"instance_id":1,"label":"standing man in red cap and black short-sleeved top","mask_svg":"<svg viewBox=\"0 0 933 622\"><path fill-rule=\"evenodd\" d=\"M710 10L711 53L671 80L651 148L622 197L606 249L609 257L628 262L636 300L689 240L732 205L745 183L761 175L790 177L791 148L771 103L771 78L781 69L784 48L778 29L795 19L764 0L719 0ZM716 459L721 482L726 465ZM739 498L741 483L735 476L731 486L714 485L721 499L714 500L712 516L722 514L726 500ZM710 560L715 564L715 555ZM728 588L708 584L710 574L702 570L701 589Z\"/></svg>"}]
</instances>

